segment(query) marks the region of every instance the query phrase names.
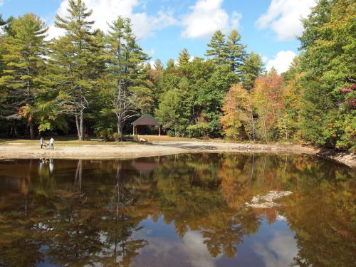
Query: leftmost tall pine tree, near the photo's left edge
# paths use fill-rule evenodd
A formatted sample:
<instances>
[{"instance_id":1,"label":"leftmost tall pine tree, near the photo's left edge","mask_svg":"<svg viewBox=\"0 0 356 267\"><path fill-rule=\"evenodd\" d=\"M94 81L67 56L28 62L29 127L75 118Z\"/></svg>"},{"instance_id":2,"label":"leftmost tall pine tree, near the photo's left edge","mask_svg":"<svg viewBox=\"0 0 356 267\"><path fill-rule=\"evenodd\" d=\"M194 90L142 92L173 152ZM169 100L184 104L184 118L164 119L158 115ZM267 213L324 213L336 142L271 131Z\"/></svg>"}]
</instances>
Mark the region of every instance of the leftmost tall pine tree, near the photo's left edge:
<instances>
[{"instance_id":1,"label":"leftmost tall pine tree, near the photo's left edge","mask_svg":"<svg viewBox=\"0 0 356 267\"><path fill-rule=\"evenodd\" d=\"M46 24L34 14L25 14L11 22L4 36L4 75L0 86L8 90L2 112L28 121L30 137L34 138L33 120L38 111L36 98L43 90L46 63Z\"/></svg>"}]
</instances>

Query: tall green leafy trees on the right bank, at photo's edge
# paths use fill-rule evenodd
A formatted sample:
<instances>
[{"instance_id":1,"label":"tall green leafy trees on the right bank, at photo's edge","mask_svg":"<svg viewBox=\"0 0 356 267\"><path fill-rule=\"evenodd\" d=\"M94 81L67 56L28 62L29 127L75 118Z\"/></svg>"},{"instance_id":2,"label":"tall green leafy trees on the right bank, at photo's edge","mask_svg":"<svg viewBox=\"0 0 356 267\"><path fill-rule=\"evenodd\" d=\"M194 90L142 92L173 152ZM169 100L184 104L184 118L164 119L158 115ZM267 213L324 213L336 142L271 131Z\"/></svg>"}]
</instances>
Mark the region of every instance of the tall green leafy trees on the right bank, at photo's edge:
<instances>
[{"instance_id":1,"label":"tall green leafy trees on the right bank, at photo's edge","mask_svg":"<svg viewBox=\"0 0 356 267\"><path fill-rule=\"evenodd\" d=\"M303 21L300 131L316 145L355 146L356 126L347 119L355 116L355 108L345 108L346 94L340 90L355 84L350 50L356 46L355 9L355 1L320 1Z\"/></svg>"}]
</instances>

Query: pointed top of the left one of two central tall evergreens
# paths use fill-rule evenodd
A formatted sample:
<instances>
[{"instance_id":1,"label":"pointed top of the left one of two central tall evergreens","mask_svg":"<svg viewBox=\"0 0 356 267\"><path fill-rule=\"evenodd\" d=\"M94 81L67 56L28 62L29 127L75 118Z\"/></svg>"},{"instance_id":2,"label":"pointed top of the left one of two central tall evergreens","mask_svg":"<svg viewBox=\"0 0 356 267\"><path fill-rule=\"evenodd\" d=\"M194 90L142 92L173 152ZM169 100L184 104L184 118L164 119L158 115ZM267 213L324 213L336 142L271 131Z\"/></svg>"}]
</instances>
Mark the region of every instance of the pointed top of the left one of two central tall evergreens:
<instances>
[{"instance_id":1,"label":"pointed top of the left one of two central tall evergreens","mask_svg":"<svg viewBox=\"0 0 356 267\"><path fill-rule=\"evenodd\" d=\"M232 36L231 36L232 37ZM209 48L206 50L205 55L211 56L216 64L226 64L226 41L225 35L220 30L216 31L207 45Z\"/></svg>"}]
</instances>

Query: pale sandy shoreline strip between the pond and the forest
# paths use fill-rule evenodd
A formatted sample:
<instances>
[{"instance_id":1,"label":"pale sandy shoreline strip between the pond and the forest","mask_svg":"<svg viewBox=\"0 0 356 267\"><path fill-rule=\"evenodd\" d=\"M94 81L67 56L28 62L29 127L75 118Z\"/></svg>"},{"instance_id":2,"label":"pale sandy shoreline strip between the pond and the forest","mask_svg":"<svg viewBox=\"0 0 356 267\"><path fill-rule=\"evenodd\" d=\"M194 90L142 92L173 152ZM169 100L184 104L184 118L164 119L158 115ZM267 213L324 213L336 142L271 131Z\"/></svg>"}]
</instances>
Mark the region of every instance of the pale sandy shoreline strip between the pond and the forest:
<instances>
[{"instance_id":1,"label":"pale sandy shoreline strip between the pond and the forest","mask_svg":"<svg viewBox=\"0 0 356 267\"><path fill-rule=\"evenodd\" d=\"M34 142L0 143L0 159L131 159L201 152L244 152L289 155L315 155L356 168L356 155L318 147L281 144L239 144L229 142L154 141L138 144L67 145L41 150Z\"/></svg>"}]
</instances>

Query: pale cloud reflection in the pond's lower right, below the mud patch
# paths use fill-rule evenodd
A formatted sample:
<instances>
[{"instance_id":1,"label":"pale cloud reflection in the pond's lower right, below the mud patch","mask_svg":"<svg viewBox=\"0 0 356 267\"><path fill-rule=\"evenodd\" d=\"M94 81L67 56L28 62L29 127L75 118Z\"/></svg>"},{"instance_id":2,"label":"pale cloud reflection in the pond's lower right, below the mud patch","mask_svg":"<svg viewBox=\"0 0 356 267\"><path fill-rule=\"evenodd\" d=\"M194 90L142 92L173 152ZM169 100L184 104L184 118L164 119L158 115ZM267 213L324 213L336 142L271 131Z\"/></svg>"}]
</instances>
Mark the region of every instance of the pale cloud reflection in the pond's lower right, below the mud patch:
<instances>
[{"instance_id":1,"label":"pale cloud reflection in the pond's lower right, below the mud patch","mask_svg":"<svg viewBox=\"0 0 356 267\"><path fill-rule=\"evenodd\" d=\"M253 250L263 258L267 267L289 266L298 253L293 236L283 232L276 232L268 244L254 243Z\"/></svg>"}]
</instances>

